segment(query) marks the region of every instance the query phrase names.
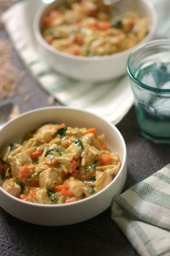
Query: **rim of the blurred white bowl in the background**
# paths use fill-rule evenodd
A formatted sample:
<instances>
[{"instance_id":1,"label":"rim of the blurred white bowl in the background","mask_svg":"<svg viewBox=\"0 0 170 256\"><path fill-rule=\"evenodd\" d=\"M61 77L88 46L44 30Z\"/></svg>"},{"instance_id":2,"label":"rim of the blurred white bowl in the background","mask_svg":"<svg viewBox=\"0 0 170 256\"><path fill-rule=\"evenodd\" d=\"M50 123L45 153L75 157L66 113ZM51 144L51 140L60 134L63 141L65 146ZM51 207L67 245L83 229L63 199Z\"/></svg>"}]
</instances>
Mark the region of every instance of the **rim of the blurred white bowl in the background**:
<instances>
[{"instance_id":1,"label":"rim of the blurred white bowl in the background","mask_svg":"<svg viewBox=\"0 0 170 256\"><path fill-rule=\"evenodd\" d=\"M108 56L76 56L76 55L70 55L69 53L66 52L62 52L59 51L58 49L55 49L54 47L52 47L50 44L48 44L45 39L43 39L43 36L41 34L41 31L39 29L39 22L41 20L41 17L43 15L43 12L46 11L46 9L48 9L49 7L51 7L51 5L53 5L55 3L52 2L51 4L47 4L43 7L41 7L41 9L38 10L38 12L35 14L34 20L33 20L33 31L35 34L35 38L38 40L38 42L43 45L43 47L45 47L49 52L53 53L54 55L59 55L60 57L67 57L70 60L81 60L81 61L102 61L102 60L112 60L112 59L116 59L117 57L122 57L124 55L129 55L129 53L135 49L135 47L139 46L140 44L143 44L145 41L148 41L153 34L156 31L156 26L158 23L158 16L157 16L157 12L156 12L156 7L153 5L153 3L151 1L147 1L147 0L139 0L140 2L143 2L143 4L145 4L145 6L148 7L148 9L150 9L150 14L151 14L151 20L152 23L150 25L150 30L148 32L148 35L145 36L145 38L140 41L138 44L136 44L134 47L127 49L123 52L117 52L113 55L108 55Z\"/></svg>"}]
</instances>

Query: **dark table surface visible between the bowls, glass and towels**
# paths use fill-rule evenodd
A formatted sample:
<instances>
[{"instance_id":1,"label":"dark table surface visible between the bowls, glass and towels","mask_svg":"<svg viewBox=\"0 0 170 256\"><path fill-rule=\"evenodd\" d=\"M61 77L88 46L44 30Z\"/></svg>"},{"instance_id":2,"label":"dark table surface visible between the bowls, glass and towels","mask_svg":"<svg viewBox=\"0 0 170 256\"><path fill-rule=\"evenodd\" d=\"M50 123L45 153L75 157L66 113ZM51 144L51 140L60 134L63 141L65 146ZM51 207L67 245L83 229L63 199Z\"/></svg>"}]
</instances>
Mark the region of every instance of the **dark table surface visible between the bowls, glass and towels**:
<instances>
[{"instance_id":1,"label":"dark table surface visible between the bowls, glass and towels","mask_svg":"<svg viewBox=\"0 0 170 256\"><path fill-rule=\"evenodd\" d=\"M1 28L0 39L7 38L7 33ZM25 70L15 51L12 63L20 71ZM10 100L0 100L0 105L9 101L17 103L21 113L48 105L48 95L27 71L20 87L29 89L30 100L25 102L23 96L16 95ZM124 190L170 162L169 145L157 145L140 136L134 107L116 127L127 144L128 175ZM110 209L77 225L43 227L17 220L0 208L0 255L135 256L137 252L111 220Z\"/></svg>"}]
</instances>

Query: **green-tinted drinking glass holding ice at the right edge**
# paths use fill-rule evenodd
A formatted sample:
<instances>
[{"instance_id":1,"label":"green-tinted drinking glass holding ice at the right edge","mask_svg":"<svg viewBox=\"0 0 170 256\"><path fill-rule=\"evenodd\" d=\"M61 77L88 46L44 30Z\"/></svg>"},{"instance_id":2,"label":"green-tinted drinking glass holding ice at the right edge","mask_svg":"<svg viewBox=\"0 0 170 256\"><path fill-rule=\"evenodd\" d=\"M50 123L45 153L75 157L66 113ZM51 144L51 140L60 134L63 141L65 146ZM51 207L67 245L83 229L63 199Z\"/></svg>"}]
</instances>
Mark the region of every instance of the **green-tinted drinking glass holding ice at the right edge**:
<instances>
[{"instance_id":1,"label":"green-tinted drinking glass holding ice at the right edge","mask_svg":"<svg viewBox=\"0 0 170 256\"><path fill-rule=\"evenodd\" d=\"M127 59L141 134L170 143L170 40L141 44Z\"/></svg>"}]
</instances>

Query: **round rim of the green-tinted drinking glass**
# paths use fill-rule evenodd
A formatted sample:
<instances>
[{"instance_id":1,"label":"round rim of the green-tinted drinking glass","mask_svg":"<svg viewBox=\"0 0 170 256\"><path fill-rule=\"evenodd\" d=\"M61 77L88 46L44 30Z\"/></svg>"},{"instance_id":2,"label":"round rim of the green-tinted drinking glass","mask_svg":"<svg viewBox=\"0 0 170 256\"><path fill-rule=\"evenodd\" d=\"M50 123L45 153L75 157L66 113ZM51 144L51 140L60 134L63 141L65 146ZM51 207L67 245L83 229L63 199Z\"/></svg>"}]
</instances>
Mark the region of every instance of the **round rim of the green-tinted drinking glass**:
<instances>
[{"instance_id":1,"label":"round rim of the green-tinted drinking glass","mask_svg":"<svg viewBox=\"0 0 170 256\"><path fill-rule=\"evenodd\" d=\"M158 45L166 45L168 44L169 45L169 49L170 49L170 39L156 39L156 40L153 40L153 41L148 41L148 43L143 43L143 44L140 44L139 47L135 48L130 54L129 56L127 57L127 73L130 77L130 79L132 79L132 81L135 81L135 83L137 85L139 85L140 87L142 87L143 89L148 89L149 91L152 91L152 92L162 92L162 93L170 93L170 89L161 89L161 88L156 88L156 87L150 87L149 85L147 84L143 84L141 81L137 80L134 76L134 74L132 73L131 71L131 68L129 66L129 62L132 58L132 56L136 53L136 52L139 52L140 49L143 49L144 47L152 47L152 46L158 46ZM170 53L169 53L170 54Z\"/></svg>"}]
</instances>

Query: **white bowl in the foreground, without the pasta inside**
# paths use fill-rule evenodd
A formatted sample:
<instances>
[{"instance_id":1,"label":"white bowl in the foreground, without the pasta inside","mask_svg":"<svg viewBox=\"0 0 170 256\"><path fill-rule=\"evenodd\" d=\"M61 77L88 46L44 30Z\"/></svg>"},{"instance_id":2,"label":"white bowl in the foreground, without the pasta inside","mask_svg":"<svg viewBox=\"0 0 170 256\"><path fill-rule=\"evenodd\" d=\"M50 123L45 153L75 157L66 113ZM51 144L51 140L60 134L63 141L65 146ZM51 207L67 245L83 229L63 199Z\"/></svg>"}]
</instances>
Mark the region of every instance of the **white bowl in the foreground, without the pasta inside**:
<instances>
[{"instance_id":1,"label":"white bowl in the foreground, without the pasta inside","mask_svg":"<svg viewBox=\"0 0 170 256\"><path fill-rule=\"evenodd\" d=\"M69 225L100 214L121 193L127 177L127 151L124 139L116 127L88 111L67 107L40 108L9 121L0 131L0 148L20 140L25 132L46 122L65 122L72 127L96 127L106 135L106 143L118 152L122 167L114 180L93 196L70 204L33 204L17 199L0 187L0 206L14 217L38 225Z\"/></svg>"}]
</instances>

